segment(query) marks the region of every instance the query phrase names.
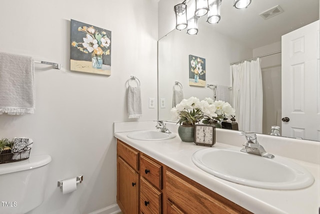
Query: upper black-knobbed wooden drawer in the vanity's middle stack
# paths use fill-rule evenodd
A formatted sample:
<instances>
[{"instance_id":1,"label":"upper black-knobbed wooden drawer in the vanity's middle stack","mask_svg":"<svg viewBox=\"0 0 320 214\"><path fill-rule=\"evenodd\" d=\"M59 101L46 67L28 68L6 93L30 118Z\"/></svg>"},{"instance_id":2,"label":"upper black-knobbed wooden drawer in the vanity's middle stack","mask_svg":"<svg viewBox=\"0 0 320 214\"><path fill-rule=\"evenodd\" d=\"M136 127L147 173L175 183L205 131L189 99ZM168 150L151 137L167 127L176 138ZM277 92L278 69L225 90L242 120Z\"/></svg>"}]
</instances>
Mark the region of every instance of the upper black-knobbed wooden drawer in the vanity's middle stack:
<instances>
[{"instance_id":1,"label":"upper black-knobbed wooden drawer in the vanity's middle stack","mask_svg":"<svg viewBox=\"0 0 320 214\"><path fill-rule=\"evenodd\" d=\"M140 175L162 189L162 166L143 155L140 156Z\"/></svg>"}]
</instances>

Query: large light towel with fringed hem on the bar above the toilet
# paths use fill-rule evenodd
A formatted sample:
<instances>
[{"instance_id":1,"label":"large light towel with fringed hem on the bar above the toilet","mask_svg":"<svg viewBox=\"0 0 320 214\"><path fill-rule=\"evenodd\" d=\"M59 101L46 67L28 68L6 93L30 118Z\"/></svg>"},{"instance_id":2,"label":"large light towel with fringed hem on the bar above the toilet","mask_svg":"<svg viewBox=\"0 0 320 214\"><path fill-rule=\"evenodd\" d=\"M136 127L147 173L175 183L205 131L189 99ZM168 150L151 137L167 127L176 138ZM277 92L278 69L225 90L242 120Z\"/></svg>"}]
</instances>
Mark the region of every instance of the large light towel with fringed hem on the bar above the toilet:
<instances>
[{"instance_id":1,"label":"large light towel with fringed hem on the bar above the toilet","mask_svg":"<svg viewBox=\"0 0 320 214\"><path fill-rule=\"evenodd\" d=\"M31 57L0 52L0 114L34 113Z\"/></svg>"}]
</instances>

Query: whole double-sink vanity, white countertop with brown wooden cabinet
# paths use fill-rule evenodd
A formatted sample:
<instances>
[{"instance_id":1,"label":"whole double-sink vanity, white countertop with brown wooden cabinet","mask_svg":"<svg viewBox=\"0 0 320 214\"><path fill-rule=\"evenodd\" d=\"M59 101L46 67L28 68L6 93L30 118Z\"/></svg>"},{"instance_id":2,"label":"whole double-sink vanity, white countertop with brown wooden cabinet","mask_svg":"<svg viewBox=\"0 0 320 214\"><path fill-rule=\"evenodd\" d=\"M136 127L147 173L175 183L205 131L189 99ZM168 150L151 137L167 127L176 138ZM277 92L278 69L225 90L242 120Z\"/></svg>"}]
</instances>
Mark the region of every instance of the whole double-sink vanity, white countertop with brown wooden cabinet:
<instances>
[{"instance_id":1,"label":"whole double-sink vanity, white countertop with brown wooden cabinet","mask_svg":"<svg viewBox=\"0 0 320 214\"><path fill-rule=\"evenodd\" d=\"M114 123L123 213L318 213L318 142L257 134L266 158L241 152L237 131L216 129L204 147L166 125L172 133L154 121Z\"/></svg>"}]
</instances>

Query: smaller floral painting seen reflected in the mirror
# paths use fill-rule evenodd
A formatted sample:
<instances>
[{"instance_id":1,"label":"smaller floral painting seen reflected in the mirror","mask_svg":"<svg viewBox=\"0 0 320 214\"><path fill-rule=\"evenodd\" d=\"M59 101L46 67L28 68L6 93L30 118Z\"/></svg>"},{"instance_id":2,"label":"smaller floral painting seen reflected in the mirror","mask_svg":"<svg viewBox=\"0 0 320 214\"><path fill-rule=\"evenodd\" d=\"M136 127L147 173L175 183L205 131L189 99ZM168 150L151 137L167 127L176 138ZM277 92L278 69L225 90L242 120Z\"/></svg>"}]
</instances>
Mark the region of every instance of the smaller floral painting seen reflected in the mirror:
<instances>
[{"instance_id":1,"label":"smaller floral painting seen reflected in the mirror","mask_svg":"<svg viewBox=\"0 0 320 214\"><path fill-rule=\"evenodd\" d=\"M205 87L205 59L189 55L189 85Z\"/></svg>"}]
</instances>

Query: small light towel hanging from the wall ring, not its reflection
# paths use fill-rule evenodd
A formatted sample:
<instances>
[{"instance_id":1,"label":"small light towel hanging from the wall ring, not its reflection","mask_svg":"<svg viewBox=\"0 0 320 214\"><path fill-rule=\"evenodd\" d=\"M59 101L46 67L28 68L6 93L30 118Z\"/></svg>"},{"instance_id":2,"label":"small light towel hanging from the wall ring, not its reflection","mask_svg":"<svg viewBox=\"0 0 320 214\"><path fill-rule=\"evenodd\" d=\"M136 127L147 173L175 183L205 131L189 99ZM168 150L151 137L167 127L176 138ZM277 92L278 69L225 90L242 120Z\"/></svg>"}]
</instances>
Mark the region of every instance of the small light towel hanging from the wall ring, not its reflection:
<instances>
[{"instance_id":1,"label":"small light towel hanging from the wall ring, not its reflection","mask_svg":"<svg viewBox=\"0 0 320 214\"><path fill-rule=\"evenodd\" d=\"M139 118L142 115L140 87L128 87L127 107L129 118Z\"/></svg>"}]
</instances>

